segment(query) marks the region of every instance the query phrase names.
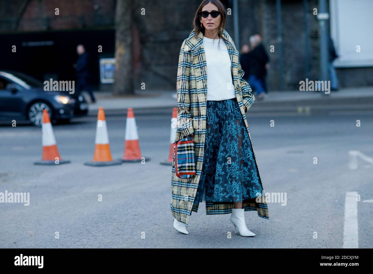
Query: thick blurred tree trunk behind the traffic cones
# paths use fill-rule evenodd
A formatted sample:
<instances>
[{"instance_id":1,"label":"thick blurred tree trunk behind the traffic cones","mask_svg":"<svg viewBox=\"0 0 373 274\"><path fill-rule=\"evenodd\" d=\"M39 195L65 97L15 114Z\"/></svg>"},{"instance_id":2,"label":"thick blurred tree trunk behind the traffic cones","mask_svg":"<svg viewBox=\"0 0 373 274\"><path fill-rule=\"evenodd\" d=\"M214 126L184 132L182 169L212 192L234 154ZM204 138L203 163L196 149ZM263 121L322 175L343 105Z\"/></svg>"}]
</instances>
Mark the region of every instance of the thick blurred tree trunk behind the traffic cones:
<instances>
[{"instance_id":1,"label":"thick blurred tree trunk behind the traffic cones","mask_svg":"<svg viewBox=\"0 0 373 274\"><path fill-rule=\"evenodd\" d=\"M132 0L117 0L115 12L114 94L134 94L132 67Z\"/></svg>"}]
</instances>

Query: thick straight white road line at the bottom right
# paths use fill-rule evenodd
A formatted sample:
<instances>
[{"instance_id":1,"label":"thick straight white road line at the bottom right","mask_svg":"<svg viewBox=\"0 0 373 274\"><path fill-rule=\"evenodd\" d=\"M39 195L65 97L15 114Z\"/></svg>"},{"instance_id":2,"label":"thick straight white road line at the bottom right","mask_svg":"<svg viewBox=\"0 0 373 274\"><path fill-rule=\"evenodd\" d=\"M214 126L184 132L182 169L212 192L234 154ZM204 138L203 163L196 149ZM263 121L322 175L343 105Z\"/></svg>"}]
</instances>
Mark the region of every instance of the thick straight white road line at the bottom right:
<instances>
[{"instance_id":1,"label":"thick straight white road line at the bottom right","mask_svg":"<svg viewBox=\"0 0 373 274\"><path fill-rule=\"evenodd\" d=\"M356 191L346 192L343 248L358 248Z\"/></svg>"}]
</instances>

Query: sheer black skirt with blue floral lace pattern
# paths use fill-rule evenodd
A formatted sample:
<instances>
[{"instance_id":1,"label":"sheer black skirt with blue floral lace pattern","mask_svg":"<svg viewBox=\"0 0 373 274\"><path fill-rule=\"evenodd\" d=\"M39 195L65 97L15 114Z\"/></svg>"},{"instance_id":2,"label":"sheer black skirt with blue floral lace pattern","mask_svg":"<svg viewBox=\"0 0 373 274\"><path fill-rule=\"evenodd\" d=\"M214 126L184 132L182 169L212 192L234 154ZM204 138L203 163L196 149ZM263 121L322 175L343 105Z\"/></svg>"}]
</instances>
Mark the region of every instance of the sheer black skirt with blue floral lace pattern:
<instances>
[{"instance_id":1,"label":"sheer black skirt with blue floral lace pattern","mask_svg":"<svg viewBox=\"0 0 373 274\"><path fill-rule=\"evenodd\" d=\"M262 193L236 98L207 101L204 163L194 204L240 202Z\"/></svg>"}]
</instances>

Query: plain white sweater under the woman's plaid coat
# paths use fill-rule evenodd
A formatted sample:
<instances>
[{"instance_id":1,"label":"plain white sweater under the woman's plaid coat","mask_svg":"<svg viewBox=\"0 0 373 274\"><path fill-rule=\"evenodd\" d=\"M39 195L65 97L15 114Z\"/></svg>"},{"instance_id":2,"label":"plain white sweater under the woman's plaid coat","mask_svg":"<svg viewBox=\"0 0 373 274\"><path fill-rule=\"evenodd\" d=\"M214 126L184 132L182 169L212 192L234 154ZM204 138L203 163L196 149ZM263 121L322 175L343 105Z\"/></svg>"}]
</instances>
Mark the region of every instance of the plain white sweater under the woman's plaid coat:
<instances>
[{"instance_id":1,"label":"plain white sweater under the woman's plaid coat","mask_svg":"<svg viewBox=\"0 0 373 274\"><path fill-rule=\"evenodd\" d=\"M203 37L207 65L207 100L219 101L236 98L232 83L231 57L224 40Z\"/></svg>"}]
</instances>

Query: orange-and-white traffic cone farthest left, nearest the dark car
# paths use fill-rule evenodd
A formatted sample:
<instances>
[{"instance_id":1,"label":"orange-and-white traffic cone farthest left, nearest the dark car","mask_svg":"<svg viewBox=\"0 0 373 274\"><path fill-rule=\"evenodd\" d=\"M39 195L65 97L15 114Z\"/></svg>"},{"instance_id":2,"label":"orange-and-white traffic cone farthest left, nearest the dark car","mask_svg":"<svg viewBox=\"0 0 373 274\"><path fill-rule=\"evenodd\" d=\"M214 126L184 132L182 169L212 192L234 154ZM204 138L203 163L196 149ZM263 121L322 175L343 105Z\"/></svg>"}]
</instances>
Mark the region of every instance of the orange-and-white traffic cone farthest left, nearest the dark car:
<instances>
[{"instance_id":1,"label":"orange-and-white traffic cone farthest left, nearest the dark car","mask_svg":"<svg viewBox=\"0 0 373 274\"><path fill-rule=\"evenodd\" d=\"M52 124L50 123L48 111L43 110L43 124L41 125L43 158L37 161L35 165L56 165L70 163L68 160L62 160L57 149L56 139L54 138Z\"/></svg>"}]
</instances>

